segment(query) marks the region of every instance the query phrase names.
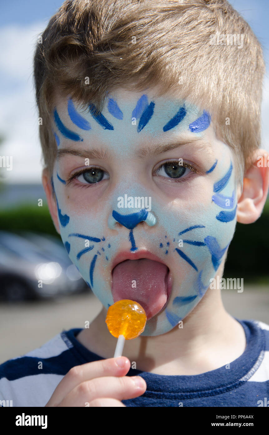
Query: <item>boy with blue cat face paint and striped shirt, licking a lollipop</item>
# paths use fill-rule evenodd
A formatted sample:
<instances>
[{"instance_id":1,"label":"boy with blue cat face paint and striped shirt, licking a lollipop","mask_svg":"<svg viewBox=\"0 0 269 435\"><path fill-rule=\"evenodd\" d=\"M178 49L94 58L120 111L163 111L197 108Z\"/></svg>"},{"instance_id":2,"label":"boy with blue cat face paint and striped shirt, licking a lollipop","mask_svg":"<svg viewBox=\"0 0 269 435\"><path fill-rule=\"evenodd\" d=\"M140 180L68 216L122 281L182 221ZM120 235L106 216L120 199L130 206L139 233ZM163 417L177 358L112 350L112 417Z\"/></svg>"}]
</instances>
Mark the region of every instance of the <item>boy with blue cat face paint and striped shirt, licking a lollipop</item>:
<instances>
[{"instance_id":1,"label":"boy with blue cat face paint and striped shirt, licking a lollipop","mask_svg":"<svg viewBox=\"0 0 269 435\"><path fill-rule=\"evenodd\" d=\"M257 166L264 62L252 30L224 0L73 0L42 38L43 186L103 309L89 328L2 364L1 399L258 406L269 326L233 318L209 288L236 220L256 221L268 192L268 168ZM121 299L141 304L147 322L114 359L105 318Z\"/></svg>"}]
</instances>

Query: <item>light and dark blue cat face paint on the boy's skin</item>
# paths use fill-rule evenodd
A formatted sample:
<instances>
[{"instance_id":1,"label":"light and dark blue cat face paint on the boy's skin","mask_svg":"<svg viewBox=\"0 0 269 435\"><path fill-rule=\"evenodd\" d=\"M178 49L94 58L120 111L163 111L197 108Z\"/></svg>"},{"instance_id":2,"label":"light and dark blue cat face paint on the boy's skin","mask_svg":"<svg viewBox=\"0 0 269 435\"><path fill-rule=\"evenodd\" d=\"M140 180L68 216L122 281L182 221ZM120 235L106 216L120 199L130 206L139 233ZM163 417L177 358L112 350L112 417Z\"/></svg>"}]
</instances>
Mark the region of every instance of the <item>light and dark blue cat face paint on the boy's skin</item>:
<instances>
[{"instance_id":1,"label":"light and dark blue cat face paint on the boy's skin","mask_svg":"<svg viewBox=\"0 0 269 435\"><path fill-rule=\"evenodd\" d=\"M153 211L143 208L136 209L135 213L130 210L118 213L114 197L123 196L126 189L129 189L128 194L133 194L133 197L138 194L147 197L151 189L150 186L145 187L142 184L142 177L140 179L140 176L137 176L132 166L134 153L139 151L139 147L146 142L149 143L149 147L155 143L164 144L167 140L169 143L180 137L181 133L186 134L187 138L191 138L191 135L195 137L196 134L199 136L201 131L209 127L210 116L205 110L183 100L167 101L167 98L155 98L154 95L146 94L137 94L135 97L132 94L126 100L121 100L113 94L104 107L102 113L97 116L95 106L90 104L89 112L84 117L82 111L76 109L70 101L65 105L63 115L59 111L61 120L58 115L60 122L56 117L56 127L61 134L66 133L67 129L82 137L85 150L90 149L94 142L97 148L102 147L102 150L111 152L120 169L124 170L124 165L129 162L130 170L129 173L125 173L119 184L114 186L115 191L110 194L109 201L107 198L106 201L103 200L102 188L98 200L93 201L94 190L75 190L76 187L65 185L55 168L54 181L60 204L61 197L71 192L70 200L63 206L68 215L62 215L68 218L70 215L70 223L66 229L60 228L61 236L63 241L68 238L65 246L71 260L105 307L113 304L110 268L116 254L122 250L138 251L142 248L147 248L153 253L156 251L169 265L173 274L173 287L165 308L147 321L143 335L163 334L185 318L203 297L209 287L209 279L214 276L228 247L227 243L232 239L235 222L229 221L228 215L223 214L236 203L235 177L230 163L232 154L225 144L216 144L212 154L215 156L215 163L203 166L206 177L201 177L201 186L206 188L200 188L200 184L190 179L188 183L178 183L177 187L173 184L173 188L167 184L167 195L165 189L159 195L159 186L156 184L155 190L150 191L153 194ZM131 118L139 121L133 123ZM88 131L85 128L86 123L92 127ZM206 137L206 132L200 136ZM212 143L208 137L206 139ZM61 138L61 146L62 143L65 141ZM185 154L191 157L189 150ZM169 159L175 156L170 152ZM190 157L186 157L186 160L191 161ZM112 167L113 159L110 161ZM143 165L143 160L141 163ZM227 171L229 164L230 169ZM105 161L100 162L100 165L106 169ZM59 174L65 177L62 168ZM121 172L118 174L120 179ZM192 185L196 186L196 190L194 187L193 191L191 190L189 186ZM227 189L224 190L226 186ZM188 195L184 193L186 190ZM222 194L220 191L223 191ZM227 199L230 201L229 205L226 203ZM218 207L224 211L219 213ZM222 220L216 218L218 213ZM146 222L147 225L139 225L140 222ZM223 222L226 222L226 231L221 231ZM126 231L126 228L129 231ZM182 238L183 246L179 249L179 236L189 236L190 231L191 236L186 240ZM87 233L91 236L87 236ZM93 242L90 247L85 247L85 240ZM66 244L69 242L71 247L70 244Z\"/></svg>"}]
</instances>

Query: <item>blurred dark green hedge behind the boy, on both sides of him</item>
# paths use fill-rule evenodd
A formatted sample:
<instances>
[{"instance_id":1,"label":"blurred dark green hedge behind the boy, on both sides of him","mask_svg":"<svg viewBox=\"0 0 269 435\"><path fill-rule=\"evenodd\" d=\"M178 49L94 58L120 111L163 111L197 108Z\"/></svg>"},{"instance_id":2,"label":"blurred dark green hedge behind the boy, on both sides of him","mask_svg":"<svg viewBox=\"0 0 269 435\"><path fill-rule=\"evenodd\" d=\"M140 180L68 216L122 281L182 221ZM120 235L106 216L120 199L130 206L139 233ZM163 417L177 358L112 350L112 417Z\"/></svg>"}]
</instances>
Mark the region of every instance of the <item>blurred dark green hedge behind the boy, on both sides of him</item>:
<instances>
[{"instance_id":1,"label":"blurred dark green hedge behind the boy, on both sides of him","mask_svg":"<svg viewBox=\"0 0 269 435\"><path fill-rule=\"evenodd\" d=\"M60 238L50 218L48 207L23 205L0 211L0 229L11 232L35 231ZM223 231L225 228L223 226ZM269 201L254 224L236 224L229 246L225 273L227 278L245 282L269 283Z\"/></svg>"}]
</instances>

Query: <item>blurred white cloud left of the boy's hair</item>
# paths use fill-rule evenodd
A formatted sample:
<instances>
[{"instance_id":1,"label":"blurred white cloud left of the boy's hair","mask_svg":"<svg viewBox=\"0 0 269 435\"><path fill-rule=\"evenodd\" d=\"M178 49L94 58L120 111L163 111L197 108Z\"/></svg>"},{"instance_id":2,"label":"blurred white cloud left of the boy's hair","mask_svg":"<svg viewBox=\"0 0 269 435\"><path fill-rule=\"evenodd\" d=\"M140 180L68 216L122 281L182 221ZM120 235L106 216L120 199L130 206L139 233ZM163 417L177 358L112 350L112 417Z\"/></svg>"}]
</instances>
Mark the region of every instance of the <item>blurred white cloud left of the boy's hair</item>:
<instances>
[{"instance_id":1,"label":"blurred white cloud left of the boy's hair","mask_svg":"<svg viewBox=\"0 0 269 435\"><path fill-rule=\"evenodd\" d=\"M0 133L5 137L1 155L13 157L13 170L4 174L6 181L12 183L40 181L33 52L43 28L43 23L35 23L30 27L9 26L0 30Z\"/></svg>"}]
</instances>

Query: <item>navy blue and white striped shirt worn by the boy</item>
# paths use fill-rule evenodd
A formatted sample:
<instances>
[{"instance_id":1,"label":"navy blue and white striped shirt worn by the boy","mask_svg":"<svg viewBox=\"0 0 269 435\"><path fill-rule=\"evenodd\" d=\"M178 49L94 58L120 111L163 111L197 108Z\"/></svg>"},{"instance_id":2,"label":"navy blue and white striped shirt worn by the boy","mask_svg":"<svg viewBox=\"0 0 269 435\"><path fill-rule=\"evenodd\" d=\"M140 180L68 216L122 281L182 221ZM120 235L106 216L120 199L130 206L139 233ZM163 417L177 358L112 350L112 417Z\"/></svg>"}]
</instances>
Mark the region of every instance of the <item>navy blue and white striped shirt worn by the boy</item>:
<instances>
[{"instance_id":1,"label":"navy blue and white striped shirt worn by the boy","mask_svg":"<svg viewBox=\"0 0 269 435\"><path fill-rule=\"evenodd\" d=\"M130 368L127 375L142 376L147 389L123 403L140 407L269 406L269 325L236 320L246 334L246 349L239 358L216 370L190 376L157 375ZM103 359L77 341L81 330L62 331L40 348L1 364L2 406L10 406L12 401L12 406L43 407L70 368Z\"/></svg>"}]
</instances>

